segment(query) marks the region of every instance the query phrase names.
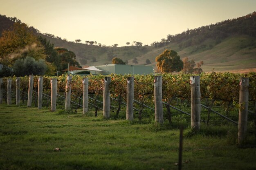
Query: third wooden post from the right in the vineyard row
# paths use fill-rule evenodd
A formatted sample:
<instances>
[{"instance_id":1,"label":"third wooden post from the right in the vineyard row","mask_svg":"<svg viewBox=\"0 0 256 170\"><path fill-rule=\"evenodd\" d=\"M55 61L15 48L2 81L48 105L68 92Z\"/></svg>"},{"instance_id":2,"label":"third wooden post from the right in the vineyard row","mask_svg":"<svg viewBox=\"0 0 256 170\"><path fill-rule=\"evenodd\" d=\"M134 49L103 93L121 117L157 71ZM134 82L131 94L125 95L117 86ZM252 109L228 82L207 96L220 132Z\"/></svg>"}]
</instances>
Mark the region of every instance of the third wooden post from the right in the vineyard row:
<instances>
[{"instance_id":1,"label":"third wooden post from the right in the vineyard row","mask_svg":"<svg viewBox=\"0 0 256 170\"><path fill-rule=\"evenodd\" d=\"M155 122L164 123L163 101L162 101L162 76L154 78L154 98L155 98Z\"/></svg>"}]
</instances>

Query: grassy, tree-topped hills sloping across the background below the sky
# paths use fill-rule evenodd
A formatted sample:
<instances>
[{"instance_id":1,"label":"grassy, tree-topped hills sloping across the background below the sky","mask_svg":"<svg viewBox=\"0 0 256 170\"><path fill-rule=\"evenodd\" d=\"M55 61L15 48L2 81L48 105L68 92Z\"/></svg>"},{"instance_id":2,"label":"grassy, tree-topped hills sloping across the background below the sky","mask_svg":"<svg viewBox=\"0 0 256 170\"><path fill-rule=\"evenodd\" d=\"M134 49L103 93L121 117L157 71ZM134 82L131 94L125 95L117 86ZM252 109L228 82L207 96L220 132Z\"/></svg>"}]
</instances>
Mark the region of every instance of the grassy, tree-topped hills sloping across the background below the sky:
<instances>
[{"instance_id":1,"label":"grassy, tree-topped hills sloping across the background below the sky","mask_svg":"<svg viewBox=\"0 0 256 170\"><path fill-rule=\"evenodd\" d=\"M0 15L0 34L11 27L17 18ZM181 58L189 57L195 62L204 61L203 71L231 71L256 68L256 12L246 16L225 20L177 35L167 35L150 46L110 47L70 42L30 27L54 46L62 46L76 54L81 65L111 64L113 57L119 57L129 65L144 65L149 59L155 65L155 57L164 49L173 49ZM133 62L134 58L137 63Z\"/></svg>"}]
</instances>

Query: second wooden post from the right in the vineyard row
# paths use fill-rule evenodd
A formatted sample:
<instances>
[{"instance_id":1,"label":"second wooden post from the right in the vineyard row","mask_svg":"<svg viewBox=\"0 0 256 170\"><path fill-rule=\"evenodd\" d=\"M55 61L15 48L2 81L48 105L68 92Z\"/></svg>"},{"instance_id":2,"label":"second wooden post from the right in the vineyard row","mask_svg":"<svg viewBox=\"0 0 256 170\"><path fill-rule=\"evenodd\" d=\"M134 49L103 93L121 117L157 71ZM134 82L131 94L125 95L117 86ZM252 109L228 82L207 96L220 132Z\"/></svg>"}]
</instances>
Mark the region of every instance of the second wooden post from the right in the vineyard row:
<instances>
[{"instance_id":1,"label":"second wooden post from the right in the vineyard row","mask_svg":"<svg viewBox=\"0 0 256 170\"><path fill-rule=\"evenodd\" d=\"M191 128L195 131L200 130L201 113L201 92L200 76L191 76Z\"/></svg>"}]
</instances>

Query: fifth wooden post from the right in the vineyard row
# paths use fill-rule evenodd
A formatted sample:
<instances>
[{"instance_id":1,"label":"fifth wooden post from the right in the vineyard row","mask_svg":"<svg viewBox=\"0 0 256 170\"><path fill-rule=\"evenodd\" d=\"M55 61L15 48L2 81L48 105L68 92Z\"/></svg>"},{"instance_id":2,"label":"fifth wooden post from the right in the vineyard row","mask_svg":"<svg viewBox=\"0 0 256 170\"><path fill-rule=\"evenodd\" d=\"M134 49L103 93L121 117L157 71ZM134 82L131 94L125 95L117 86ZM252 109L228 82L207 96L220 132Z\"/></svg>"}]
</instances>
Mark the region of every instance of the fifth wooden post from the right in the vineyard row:
<instances>
[{"instance_id":1,"label":"fifth wooden post from the right in the vineyard row","mask_svg":"<svg viewBox=\"0 0 256 170\"><path fill-rule=\"evenodd\" d=\"M103 89L103 116L105 118L110 117L110 91L109 91L110 82L111 82L111 77L105 77L104 89Z\"/></svg>"}]
</instances>

